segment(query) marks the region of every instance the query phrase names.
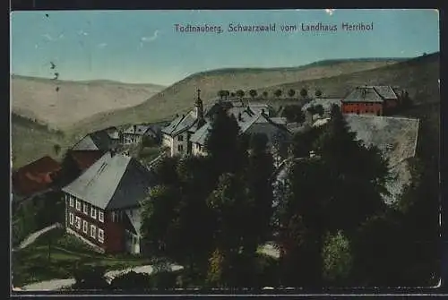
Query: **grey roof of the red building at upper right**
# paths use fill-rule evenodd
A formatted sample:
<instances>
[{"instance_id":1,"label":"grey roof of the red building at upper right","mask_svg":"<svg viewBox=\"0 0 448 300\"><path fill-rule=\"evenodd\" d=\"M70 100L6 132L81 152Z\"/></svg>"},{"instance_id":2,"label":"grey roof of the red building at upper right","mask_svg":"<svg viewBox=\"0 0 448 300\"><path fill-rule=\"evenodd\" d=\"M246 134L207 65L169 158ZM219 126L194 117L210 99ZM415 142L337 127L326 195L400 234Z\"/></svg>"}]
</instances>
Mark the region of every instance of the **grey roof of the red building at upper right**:
<instances>
[{"instance_id":1,"label":"grey roof of the red building at upper right","mask_svg":"<svg viewBox=\"0 0 448 300\"><path fill-rule=\"evenodd\" d=\"M390 86L360 86L352 90L343 102L383 102L384 99L398 99Z\"/></svg>"}]
</instances>

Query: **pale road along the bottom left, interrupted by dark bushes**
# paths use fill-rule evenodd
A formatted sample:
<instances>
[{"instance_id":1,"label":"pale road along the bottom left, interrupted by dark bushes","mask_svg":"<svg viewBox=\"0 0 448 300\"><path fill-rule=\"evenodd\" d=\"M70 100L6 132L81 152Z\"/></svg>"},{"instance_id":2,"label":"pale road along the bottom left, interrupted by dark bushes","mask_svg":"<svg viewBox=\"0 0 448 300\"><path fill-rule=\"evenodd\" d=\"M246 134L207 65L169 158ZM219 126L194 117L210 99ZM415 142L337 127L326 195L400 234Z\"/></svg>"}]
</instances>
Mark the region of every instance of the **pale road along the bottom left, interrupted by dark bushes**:
<instances>
[{"instance_id":1,"label":"pale road along the bottom left, interrupted by dark bushes","mask_svg":"<svg viewBox=\"0 0 448 300\"><path fill-rule=\"evenodd\" d=\"M176 265L176 264L171 264L169 266L171 271L175 271L175 270L182 270L183 267ZM140 266L140 267L134 267L134 268L128 268L125 270L111 270L108 271L105 274L105 278L108 280L108 282L110 283L110 281L112 281L112 279L115 279L116 276L128 273L130 271L134 271L136 273L146 273L146 274L151 274L154 272L154 269L157 268L153 268L151 265L144 265L144 266ZM13 288L13 290L22 290L22 291L54 291L54 290L59 290L62 289L64 287L71 287L73 286L73 284L75 283L74 279L52 279L52 280L47 280L47 281L40 281L40 282L36 282L36 283L32 283L28 286L24 286L24 287L20 287L20 288Z\"/></svg>"}]
</instances>

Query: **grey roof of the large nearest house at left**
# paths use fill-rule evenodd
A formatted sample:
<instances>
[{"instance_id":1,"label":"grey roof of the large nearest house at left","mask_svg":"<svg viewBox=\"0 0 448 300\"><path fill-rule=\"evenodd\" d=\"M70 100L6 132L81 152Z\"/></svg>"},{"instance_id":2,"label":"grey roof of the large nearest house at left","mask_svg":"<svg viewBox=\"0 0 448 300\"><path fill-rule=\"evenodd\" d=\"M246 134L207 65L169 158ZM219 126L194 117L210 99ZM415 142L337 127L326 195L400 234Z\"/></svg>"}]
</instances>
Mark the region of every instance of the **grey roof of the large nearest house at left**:
<instances>
[{"instance_id":1,"label":"grey roof of the large nearest house at left","mask_svg":"<svg viewBox=\"0 0 448 300\"><path fill-rule=\"evenodd\" d=\"M137 206L154 184L155 176L138 161L108 152L63 191L102 210L119 210Z\"/></svg>"}]
</instances>

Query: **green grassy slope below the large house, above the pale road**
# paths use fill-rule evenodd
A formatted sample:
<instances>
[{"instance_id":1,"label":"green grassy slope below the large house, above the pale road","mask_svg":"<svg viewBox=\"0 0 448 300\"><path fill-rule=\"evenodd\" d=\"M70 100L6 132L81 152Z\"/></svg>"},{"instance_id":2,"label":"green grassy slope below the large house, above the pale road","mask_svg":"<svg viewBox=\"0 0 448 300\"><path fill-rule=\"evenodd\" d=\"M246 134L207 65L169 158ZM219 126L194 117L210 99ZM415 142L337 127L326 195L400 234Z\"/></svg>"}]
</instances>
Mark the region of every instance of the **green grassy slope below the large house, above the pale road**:
<instances>
[{"instance_id":1,"label":"green grassy slope below the large house, above the pale road","mask_svg":"<svg viewBox=\"0 0 448 300\"><path fill-rule=\"evenodd\" d=\"M50 246L48 240L51 240ZM76 265L121 270L149 263L149 259L130 254L95 253L75 236L65 234L64 229L55 229L40 236L27 248L13 253L13 285L22 287L44 280L69 279L73 277Z\"/></svg>"}]
</instances>

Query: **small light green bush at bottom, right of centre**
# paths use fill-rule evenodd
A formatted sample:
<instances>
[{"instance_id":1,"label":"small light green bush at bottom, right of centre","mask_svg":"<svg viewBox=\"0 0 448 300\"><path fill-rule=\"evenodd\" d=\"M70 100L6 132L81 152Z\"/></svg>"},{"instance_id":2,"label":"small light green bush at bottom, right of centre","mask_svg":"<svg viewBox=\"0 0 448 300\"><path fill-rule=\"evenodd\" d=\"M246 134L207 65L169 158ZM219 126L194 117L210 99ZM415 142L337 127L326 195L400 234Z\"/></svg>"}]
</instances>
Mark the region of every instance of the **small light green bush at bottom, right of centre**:
<instances>
[{"instance_id":1,"label":"small light green bush at bottom, right of centre","mask_svg":"<svg viewBox=\"0 0 448 300\"><path fill-rule=\"evenodd\" d=\"M348 286L353 257L349 239L340 231L327 235L323 242L323 279L329 285Z\"/></svg>"}]
</instances>

